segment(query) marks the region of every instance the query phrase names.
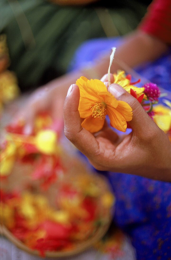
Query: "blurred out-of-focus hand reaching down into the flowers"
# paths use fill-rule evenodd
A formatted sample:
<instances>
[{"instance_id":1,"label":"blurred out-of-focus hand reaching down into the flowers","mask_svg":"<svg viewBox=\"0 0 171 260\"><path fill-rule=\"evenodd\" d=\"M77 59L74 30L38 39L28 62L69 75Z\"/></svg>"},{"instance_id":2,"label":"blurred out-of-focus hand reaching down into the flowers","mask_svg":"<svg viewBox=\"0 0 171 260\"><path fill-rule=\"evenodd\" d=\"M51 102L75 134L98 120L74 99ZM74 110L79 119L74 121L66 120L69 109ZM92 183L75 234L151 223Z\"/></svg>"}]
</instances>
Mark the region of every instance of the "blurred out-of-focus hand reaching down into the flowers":
<instances>
[{"instance_id":1,"label":"blurred out-of-focus hand reaching down into the flowers","mask_svg":"<svg viewBox=\"0 0 171 260\"><path fill-rule=\"evenodd\" d=\"M63 84L58 79L39 87L28 96L24 106L15 115L14 123L24 120L24 133L29 135L33 132L36 115L40 112L47 111L52 119L63 120L66 93L66 87L63 88Z\"/></svg>"}]
</instances>

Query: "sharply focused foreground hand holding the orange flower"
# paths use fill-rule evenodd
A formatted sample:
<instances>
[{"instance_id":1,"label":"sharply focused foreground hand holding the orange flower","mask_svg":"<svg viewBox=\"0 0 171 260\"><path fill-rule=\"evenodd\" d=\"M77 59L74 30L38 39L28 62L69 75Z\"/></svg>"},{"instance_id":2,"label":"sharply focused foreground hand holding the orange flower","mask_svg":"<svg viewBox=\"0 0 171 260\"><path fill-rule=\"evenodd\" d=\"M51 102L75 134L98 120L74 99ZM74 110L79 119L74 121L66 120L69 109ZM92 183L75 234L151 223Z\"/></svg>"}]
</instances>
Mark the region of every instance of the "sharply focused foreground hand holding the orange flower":
<instances>
[{"instance_id":1,"label":"sharply focused foreground hand holding the orange flower","mask_svg":"<svg viewBox=\"0 0 171 260\"><path fill-rule=\"evenodd\" d=\"M102 80L107 81L105 77ZM108 83L105 84L108 87ZM64 102L65 136L97 170L171 181L171 144L167 135L120 85L111 84L108 91L131 106L133 117L129 124L132 132L118 136L107 123L94 134L82 128L78 111L80 92L73 84Z\"/></svg>"}]
</instances>

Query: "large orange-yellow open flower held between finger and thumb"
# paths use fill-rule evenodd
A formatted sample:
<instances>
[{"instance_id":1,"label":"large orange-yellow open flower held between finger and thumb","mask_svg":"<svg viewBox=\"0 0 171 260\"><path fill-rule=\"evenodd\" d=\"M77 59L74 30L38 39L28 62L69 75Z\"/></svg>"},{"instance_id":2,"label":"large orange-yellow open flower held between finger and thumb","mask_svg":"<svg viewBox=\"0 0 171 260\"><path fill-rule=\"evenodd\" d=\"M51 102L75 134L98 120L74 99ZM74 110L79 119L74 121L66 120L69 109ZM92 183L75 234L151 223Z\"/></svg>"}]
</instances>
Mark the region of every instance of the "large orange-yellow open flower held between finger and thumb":
<instances>
[{"instance_id":1,"label":"large orange-yellow open flower held between finger and thumb","mask_svg":"<svg viewBox=\"0 0 171 260\"><path fill-rule=\"evenodd\" d=\"M115 99L100 80L88 80L82 76L76 84L80 89L78 110L84 119L82 127L91 133L100 131L108 115L114 128L126 131L126 122L132 119L132 108L126 102Z\"/></svg>"}]
</instances>

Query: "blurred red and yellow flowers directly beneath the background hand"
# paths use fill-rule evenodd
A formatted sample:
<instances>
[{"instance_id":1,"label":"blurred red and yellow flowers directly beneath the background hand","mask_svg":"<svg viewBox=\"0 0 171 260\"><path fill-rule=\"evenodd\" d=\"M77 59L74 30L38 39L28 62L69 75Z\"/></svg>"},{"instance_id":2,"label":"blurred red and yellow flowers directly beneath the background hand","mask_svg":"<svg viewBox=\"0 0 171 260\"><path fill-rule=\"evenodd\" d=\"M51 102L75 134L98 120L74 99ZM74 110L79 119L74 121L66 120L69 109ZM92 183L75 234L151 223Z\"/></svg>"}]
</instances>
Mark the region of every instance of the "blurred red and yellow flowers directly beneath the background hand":
<instances>
[{"instance_id":1,"label":"blurred red and yellow flowers directly beneath the background hand","mask_svg":"<svg viewBox=\"0 0 171 260\"><path fill-rule=\"evenodd\" d=\"M19 122L6 127L5 141L0 152L0 178L7 178L11 174L16 161L21 164L31 163L35 168L30 176L41 181L43 190L48 189L57 176L65 172L58 141L63 125L60 121L54 125L50 115L45 112L35 119L34 134L25 135L24 125L24 122Z\"/></svg>"}]
</instances>

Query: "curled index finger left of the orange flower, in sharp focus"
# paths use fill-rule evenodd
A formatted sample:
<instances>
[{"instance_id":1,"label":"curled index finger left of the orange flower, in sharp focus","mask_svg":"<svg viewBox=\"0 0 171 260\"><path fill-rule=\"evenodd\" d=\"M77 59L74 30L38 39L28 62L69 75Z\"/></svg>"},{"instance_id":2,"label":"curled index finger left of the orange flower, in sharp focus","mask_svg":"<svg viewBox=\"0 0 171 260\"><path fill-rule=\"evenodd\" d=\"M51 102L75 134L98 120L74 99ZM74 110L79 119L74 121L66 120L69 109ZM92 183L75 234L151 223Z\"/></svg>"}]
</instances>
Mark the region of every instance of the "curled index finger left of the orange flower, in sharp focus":
<instances>
[{"instance_id":1,"label":"curled index finger left of the orange flower, in sharp focus","mask_svg":"<svg viewBox=\"0 0 171 260\"><path fill-rule=\"evenodd\" d=\"M73 84L70 86L64 102L64 133L83 154L92 159L99 153L99 145L93 134L81 126L78 111L79 101L80 90L76 84Z\"/></svg>"}]
</instances>

